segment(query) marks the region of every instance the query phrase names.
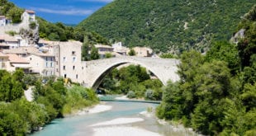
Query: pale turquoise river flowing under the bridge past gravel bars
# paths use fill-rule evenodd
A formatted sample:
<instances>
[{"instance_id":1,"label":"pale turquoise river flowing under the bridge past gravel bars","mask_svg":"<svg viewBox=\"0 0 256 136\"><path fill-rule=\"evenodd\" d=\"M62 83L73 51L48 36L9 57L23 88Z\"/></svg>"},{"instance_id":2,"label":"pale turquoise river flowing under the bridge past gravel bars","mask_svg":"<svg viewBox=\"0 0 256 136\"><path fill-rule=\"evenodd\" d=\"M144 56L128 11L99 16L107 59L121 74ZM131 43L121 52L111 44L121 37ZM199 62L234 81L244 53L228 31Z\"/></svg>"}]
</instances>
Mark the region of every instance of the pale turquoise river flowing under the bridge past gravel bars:
<instances>
[{"instance_id":1,"label":"pale turquoise river flowing under the bridge past gravel bars","mask_svg":"<svg viewBox=\"0 0 256 136\"><path fill-rule=\"evenodd\" d=\"M50 124L47 124L44 129L31 134L32 136L94 136L102 135L95 133L95 129L101 131L103 135L110 135L111 130L108 129L134 129L145 130L150 135L163 135L163 136L180 136L180 135L194 135L187 129L177 129L170 125L159 124L158 120L154 116L142 115L141 112L146 111L149 107L153 109L158 104L140 103L140 102L105 102L105 105L112 106L111 110L107 110L96 114L75 115L64 119L53 120ZM139 122L128 124L115 124L96 126L95 124L103 123L110 120L129 120L129 119L141 119ZM92 126L92 125L95 126ZM108 129L107 129L108 127ZM130 131L127 130L128 133ZM105 132L106 131L106 132ZM121 130L122 131L122 130ZM123 131L126 132L126 131ZM140 131L137 131L140 132ZM105 134L104 134L105 133ZM150 134L151 133L151 134ZM132 133L130 133L132 134ZM130 135L122 134L122 135ZM140 136L141 134L135 134ZM131 136L131 135L130 135Z\"/></svg>"}]
</instances>

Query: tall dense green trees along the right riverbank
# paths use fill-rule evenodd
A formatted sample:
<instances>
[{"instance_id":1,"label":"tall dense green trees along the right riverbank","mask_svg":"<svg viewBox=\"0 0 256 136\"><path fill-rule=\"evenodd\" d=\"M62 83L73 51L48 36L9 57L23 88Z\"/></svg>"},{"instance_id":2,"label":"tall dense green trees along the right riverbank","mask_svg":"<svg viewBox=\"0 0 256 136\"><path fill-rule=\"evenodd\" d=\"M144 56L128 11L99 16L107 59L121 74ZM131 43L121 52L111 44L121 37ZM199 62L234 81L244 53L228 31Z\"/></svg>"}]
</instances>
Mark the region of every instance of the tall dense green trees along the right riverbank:
<instances>
[{"instance_id":1,"label":"tall dense green trees along the right riverbank","mask_svg":"<svg viewBox=\"0 0 256 136\"><path fill-rule=\"evenodd\" d=\"M217 42L206 56L181 56L181 80L165 87L159 118L182 121L201 134L256 135L255 7L240 24L245 35L238 45Z\"/></svg>"}]
</instances>

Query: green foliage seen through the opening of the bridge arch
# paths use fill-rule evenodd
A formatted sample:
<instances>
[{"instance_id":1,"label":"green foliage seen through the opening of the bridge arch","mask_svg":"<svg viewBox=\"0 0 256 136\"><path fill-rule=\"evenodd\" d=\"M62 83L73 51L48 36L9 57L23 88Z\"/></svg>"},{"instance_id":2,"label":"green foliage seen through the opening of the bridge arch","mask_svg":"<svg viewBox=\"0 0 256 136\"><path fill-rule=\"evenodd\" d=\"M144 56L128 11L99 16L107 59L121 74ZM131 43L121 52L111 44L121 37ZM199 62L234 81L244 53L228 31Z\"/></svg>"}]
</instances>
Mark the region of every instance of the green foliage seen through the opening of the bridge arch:
<instances>
[{"instance_id":1,"label":"green foliage seen through the opening of the bridge arch","mask_svg":"<svg viewBox=\"0 0 256 136\"><path fill-rule=\"evenodd\" d=\"M114 69L103 79L100 88L105 89L107 93L125 94L129 98L161 100L162 86L159 79L150 79L145 68L129 65Z\"/></svg>"}]
</instances>

